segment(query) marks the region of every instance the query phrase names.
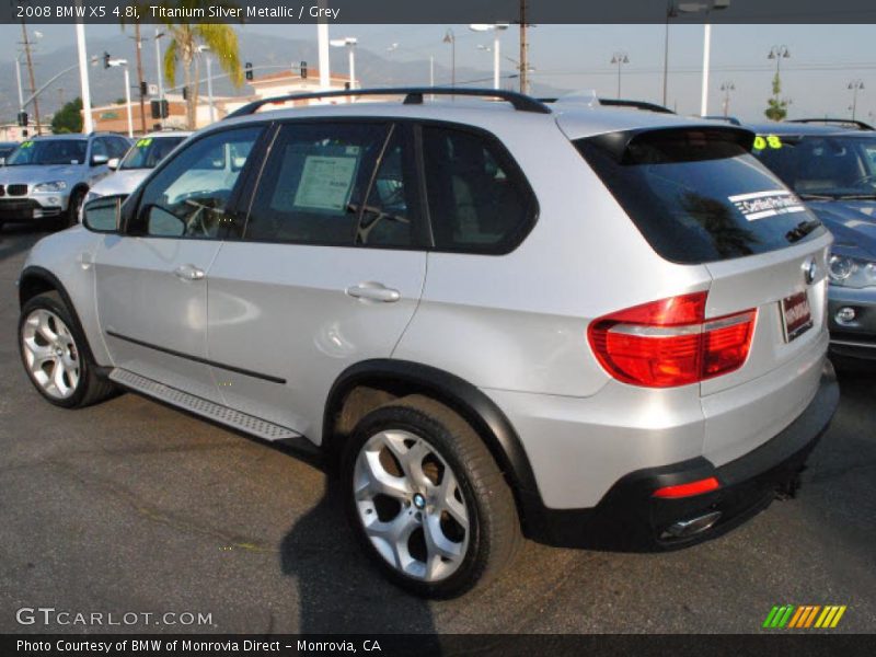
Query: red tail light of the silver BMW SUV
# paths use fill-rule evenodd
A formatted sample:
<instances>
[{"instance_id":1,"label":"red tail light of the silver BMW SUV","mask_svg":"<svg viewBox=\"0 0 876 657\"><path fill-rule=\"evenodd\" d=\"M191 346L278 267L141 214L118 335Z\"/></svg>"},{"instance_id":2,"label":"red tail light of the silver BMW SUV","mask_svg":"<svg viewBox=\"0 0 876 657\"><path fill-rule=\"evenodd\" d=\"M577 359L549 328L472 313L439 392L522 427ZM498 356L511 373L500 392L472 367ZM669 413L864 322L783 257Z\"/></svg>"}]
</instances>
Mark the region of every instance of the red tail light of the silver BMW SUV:
<instances>
[{"instance_id":1,"label":"red tail light of the silver BMW SUV","mask_svg":"<svg viewBox=\"0 0 876 657\"><path fill-rule=\"evenodd\" d=\"M687 385L739 369L748 358L757 309L705 320L706 292L660 299L590 323L600 365L633 385Z\"/></svg>"}]
</instances>

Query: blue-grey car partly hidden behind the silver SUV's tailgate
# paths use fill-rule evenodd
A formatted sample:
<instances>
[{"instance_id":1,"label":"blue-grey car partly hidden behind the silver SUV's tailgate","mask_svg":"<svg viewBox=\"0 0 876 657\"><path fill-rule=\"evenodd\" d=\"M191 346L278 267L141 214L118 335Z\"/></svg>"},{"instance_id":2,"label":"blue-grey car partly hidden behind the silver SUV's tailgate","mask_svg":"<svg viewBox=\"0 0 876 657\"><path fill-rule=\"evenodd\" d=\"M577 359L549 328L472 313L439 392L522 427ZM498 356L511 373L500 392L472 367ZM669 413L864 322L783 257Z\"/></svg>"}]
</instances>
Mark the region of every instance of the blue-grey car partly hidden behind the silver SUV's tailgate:
<instances>
[{"instance_id":1,"label":"blue-grey car partly hidden behind the silver SUV's tailgate","mask_svg":"<svg viewBox=\"0 0 876 657\"><path fill-rule=\"evenodd\" d=\"M831 353L876 360L876 132L797 123L754 128L754 154L833 233Z\"/></svg>"}]
</instances>

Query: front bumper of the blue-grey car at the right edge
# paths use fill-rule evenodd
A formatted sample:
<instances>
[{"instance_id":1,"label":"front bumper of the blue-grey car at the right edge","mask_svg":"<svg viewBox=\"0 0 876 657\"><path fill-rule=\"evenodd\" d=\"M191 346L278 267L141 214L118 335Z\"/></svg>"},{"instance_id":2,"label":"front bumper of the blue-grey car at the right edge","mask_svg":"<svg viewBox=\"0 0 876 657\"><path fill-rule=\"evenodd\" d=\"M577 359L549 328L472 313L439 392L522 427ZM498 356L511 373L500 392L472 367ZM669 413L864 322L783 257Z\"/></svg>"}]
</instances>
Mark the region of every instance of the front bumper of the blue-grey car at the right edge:
<instances>
[{"instance_id":1,"label":"front bumper of the blue-grey car at the right edge","mask_svg":"<svg viewBox=\"0 0 876 657\"><path fill-rule=\"evenodd\" d=\"M843 323L837 321L837 313L843 308L854 311L854 320ZM876 289L831 286L828 313L832 355L876 360Z\"/></svg>"}]
</instances>

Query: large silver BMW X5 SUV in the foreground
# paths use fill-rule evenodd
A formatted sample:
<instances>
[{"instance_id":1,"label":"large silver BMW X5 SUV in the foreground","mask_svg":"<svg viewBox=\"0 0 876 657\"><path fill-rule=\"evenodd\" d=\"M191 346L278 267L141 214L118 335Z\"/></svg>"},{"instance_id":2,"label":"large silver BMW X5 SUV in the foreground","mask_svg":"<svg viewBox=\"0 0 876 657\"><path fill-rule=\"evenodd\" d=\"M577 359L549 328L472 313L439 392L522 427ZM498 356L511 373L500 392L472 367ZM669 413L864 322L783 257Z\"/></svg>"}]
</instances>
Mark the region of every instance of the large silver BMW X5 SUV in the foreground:
<instances>
[{"instance_id":1,"label":"large silver BMW X5 SUV in the foreground","mask_svg":"<svg viewBox=\"0 0 876 657\"><path fill-rule=\"evenodd\" d=\"M434 597L522 537L671 549L796 483L838 403L830 235L751 132L395 92L254 103L39 242L37 391L318 446L365 550Z\"/></svg>"}]
</instances>

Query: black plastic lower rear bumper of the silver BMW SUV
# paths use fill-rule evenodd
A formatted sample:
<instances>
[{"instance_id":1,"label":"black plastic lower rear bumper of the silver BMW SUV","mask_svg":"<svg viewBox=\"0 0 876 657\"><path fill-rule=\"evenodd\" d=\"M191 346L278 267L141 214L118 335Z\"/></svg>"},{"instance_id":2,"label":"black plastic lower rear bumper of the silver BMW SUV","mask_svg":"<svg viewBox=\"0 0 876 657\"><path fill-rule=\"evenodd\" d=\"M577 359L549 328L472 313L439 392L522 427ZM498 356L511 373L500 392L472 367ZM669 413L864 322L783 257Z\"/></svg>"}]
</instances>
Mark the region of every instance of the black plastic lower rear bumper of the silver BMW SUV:
<instances>
[{"instance_id":1,"label":"black plastic lower rear bumper of the silver BMW SUV","mask_svg":"<svg viewBox=\"0 0 876 657\"><path fill-rule=\"evenodd\" d=\"M719 468L703 457L647 468L619 480L593 508L551 509L528 514L530 538L568 548L597 550L671 550L715 538L766 508L781 489L793 491L798 474L839 404L839 385L830 362L804 412L783 431L753 451ZM654 497L665 486L716 477L712 493L680 499ZM528 500L535 504L534 499ZM676 538L678 522L719 514L708 529Z\"/></svg>"}]
</instances>

